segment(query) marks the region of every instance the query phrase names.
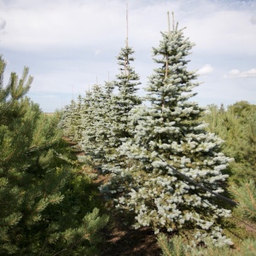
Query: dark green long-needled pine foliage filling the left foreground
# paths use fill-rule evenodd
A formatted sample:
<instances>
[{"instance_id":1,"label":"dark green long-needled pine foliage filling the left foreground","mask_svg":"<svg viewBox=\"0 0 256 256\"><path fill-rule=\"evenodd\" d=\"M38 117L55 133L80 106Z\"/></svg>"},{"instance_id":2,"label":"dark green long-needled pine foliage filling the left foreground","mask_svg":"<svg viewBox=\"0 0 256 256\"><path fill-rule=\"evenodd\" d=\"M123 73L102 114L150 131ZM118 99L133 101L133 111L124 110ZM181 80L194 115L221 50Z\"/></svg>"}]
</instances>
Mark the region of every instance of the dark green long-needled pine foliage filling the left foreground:
<instances>
[{"instance_id":1,"label":"dark green long-needled pine foliage filling the left foreground","mask_svg":"<svg viewBox=\"0 0 256 256\"><path fill-rule=\"evenodd\" d=\"M90 203L89 179L55 128L58 114L26 98L27 68L3 87L2 59L0 67L0 254L95 255L108 218Z\"/></svg>"}]
</instances>

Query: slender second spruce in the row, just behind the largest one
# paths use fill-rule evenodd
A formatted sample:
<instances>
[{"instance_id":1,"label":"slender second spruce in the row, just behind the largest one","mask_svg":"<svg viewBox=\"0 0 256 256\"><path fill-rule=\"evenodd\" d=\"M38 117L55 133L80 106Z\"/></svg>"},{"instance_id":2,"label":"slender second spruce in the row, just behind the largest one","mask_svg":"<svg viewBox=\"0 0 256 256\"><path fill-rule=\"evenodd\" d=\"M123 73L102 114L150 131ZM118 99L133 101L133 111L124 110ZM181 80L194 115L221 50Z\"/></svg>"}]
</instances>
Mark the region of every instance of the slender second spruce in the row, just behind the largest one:
<instances>
[{"instance_id":1,"label":"slender second spruce in the row, just behind the largest one","mask_svg":"<svg viewBox=\"0 0 256 256\"><path fill-rule=\"evenodd\" d=\"M128 45L126 38L125 48L120 50L117 57L120 73L113 81L113 85L118 88L118 94L112 96L110 101L110 111L107 113L108 123L111 124L111 130L108 132L108 144L105 146L105 161L107 164L102 169L111 172L118 172L121 164L120 156L117 151L120 144L131 137L130 126L128 125L128 116L132 108L142 103L140 96L137 96L139 81L138 74L131 67L131 61L134 61L134 50ZM109 126L109 125L108 125Z\"/></svg>"}]
</instances>

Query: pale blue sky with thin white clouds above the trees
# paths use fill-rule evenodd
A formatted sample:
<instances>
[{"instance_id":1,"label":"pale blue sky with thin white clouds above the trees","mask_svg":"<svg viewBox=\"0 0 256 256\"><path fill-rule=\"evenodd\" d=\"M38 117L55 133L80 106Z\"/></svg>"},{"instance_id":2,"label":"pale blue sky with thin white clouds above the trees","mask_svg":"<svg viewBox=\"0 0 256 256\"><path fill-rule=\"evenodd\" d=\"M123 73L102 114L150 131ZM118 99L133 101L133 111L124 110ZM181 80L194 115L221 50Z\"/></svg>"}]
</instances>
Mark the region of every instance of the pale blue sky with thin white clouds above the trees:
<instances>
[{"instance_id":1,"label":"pale blue sky with thin white clouds above the trees","mask_svg":"<svg viewBox=\"0 0 256 256\"><path fill-rule=\"evenodd\" d=\"M54 112L93 84L115 79L116 56L125 47L126 3L140 95L158 67L152 47L168 29L169 11L195 43L188 69L201 84L191 100L201 106L256 104L256 0L0 0L5 84L11 72L21 76L29 67L34 80L28 96Z\"/></svg>"}]
</instances>

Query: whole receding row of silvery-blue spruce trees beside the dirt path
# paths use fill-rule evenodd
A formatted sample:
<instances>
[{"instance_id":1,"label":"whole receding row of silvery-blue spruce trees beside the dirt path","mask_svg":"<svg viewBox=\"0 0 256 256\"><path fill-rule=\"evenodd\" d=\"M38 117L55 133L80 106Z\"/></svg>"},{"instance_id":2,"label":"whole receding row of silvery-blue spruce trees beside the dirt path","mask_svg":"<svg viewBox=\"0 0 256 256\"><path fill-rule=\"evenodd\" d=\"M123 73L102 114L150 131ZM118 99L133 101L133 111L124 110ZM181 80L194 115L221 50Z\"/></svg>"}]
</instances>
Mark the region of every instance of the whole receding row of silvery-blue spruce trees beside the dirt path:
<instances>
[{"instance_id":1,"label":"whole receding row of silvery-blue spruce trees beside the dirt path","mask_svg":"<svg viewBox=\"0 0 256 256\"><path fill-rule=\"evenodd\" d=\"M232 244L221 226L231 213L216 194L224 192L233 159L208 130L206 108L191 101L199 85L187 67L192 47L183 29L162 32L153 48L157 67L141 98L134 52L126 44L116 79L95 84L67 106L61 128L84 150L81 161L110 173L102 193L134 214L135 228L182 235L188 247L221 247Z\"/></svg>"}]
</instances>

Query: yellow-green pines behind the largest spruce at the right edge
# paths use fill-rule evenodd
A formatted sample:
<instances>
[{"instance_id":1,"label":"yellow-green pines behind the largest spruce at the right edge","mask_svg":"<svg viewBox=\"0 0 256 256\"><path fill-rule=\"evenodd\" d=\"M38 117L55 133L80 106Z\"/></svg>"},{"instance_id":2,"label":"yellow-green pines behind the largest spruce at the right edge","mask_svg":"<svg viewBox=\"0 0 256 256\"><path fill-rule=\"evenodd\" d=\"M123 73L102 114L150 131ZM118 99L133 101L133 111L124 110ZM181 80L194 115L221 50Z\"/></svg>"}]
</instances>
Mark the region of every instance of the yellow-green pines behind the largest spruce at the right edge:
<instances>
[{"instance_id":1,"label":"yellow-green pines behind the largest spruce at the right edge","mask_svg":"<svg viewBox=\"0 0 256 256\"><path fill-rule=\"evenodd\" d=\"M256 106L236 102L224 108L209 106L211 114L203 119L208 129L224 139L223 151L233 157L231 180L240 183L244 178L256 180Z\"/></svg>"}]
</instances>

